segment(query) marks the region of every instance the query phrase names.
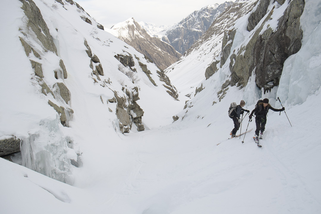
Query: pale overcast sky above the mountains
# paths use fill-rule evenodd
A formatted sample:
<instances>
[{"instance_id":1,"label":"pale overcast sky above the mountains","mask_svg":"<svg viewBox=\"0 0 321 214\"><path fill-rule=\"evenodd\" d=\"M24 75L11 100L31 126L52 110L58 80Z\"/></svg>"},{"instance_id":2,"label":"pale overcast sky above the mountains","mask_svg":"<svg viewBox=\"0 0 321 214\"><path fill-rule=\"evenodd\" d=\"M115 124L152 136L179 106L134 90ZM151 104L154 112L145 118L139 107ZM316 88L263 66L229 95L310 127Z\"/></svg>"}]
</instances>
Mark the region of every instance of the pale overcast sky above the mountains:
<instances>
[{"instance_id":1,"label":"pale overcast sky above the mountains","mask_svg":"<svg viewBox=\"0 0 321 214\"><path fill-rule=\"evenodd\" d=\"M210 4L227 0L76 0L89 15L106 29L133 17L157 25L176 24ZM232 0L235 1L235 0Z\"/></svg>"}]
</instances>

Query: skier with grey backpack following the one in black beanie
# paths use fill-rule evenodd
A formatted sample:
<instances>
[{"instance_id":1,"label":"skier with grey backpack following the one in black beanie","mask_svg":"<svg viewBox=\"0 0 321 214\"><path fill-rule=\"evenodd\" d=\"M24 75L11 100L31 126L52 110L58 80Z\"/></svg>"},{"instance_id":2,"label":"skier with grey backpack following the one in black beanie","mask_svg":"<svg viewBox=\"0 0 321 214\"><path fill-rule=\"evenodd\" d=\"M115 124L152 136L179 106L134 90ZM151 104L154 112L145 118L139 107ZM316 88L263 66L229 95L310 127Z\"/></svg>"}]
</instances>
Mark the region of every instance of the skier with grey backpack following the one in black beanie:
<instances>
[{"instance_id":1,"label":"skier with grey backpack following the one in black beanie","mask_svg":"<svg viewBox=\"0 0 321 214\"><path fill-rule=\"evenodd\" d=\"M229 117L233 119L234 123L234 129L231 131L230 135L231 137L236 137L236 132L239 130L240 123L240 116L243 115L243 113L246 111L247 113L250 113L249 110L244 109L245 106L244 100L241 100L239 105L236 105L235 102L232 102L229 108ZM242 116L243 117L243 116Z\"/></svg>"}]
</instances>

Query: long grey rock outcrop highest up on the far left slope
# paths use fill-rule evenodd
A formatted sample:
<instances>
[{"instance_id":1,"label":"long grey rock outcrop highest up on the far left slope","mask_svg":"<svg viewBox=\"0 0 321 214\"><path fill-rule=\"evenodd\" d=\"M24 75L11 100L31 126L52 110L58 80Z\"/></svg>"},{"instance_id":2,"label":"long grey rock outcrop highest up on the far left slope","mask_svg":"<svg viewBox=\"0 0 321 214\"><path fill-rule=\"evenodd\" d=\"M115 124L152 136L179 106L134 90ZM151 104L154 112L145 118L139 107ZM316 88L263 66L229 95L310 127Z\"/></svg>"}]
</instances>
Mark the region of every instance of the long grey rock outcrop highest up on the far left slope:
<instances>
[{"instance_id":1,"label":"long grey rock outcrop highest up on the far left slope","mask_svg":"<svg viewBox=\"0 0 321 214\"><path fill-rule=\"evenodd\" d=\"M32 0L19 1L22 2L23 5L21 8L28 17L27 28L31 28L31 30L36 34L37 39L39 39L45 51L52 51L57 55L56 46L37 5Z\"/></svg>"}]
</instances>

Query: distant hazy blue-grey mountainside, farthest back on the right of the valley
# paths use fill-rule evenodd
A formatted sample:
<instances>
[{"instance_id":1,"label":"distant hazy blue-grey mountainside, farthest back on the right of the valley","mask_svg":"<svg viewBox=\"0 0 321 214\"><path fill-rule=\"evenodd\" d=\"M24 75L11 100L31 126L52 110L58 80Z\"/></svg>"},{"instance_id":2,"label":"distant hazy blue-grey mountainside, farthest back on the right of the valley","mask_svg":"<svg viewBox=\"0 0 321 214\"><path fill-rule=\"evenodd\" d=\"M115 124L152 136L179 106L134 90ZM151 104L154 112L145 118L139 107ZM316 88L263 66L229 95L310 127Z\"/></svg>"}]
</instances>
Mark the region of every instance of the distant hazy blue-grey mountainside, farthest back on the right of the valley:
<instances>
[{"instance_id":1,"label":"distant hazy blue-grey mountainside, farthest back on the right of the valley","mask_svg":"<svg viewBox=\"0 0 321 214\"><path fill-rule=\"evenodd\" d=\"M183 54L211 26L214 19L233 2L217 4L216 8L204 7L180 21L174 29L166 32L162 40L168 42L179 53Z\"/></svg>"}]
</instances>

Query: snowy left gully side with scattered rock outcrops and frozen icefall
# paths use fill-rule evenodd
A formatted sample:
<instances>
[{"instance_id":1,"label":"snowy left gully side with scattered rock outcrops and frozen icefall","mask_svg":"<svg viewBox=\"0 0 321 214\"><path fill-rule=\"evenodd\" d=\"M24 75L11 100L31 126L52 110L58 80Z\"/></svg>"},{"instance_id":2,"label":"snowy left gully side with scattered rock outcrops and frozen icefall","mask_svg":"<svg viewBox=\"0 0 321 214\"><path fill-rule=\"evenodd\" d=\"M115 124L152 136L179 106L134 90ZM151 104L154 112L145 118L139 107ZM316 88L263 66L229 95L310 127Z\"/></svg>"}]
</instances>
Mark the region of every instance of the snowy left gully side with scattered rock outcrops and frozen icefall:
<instances>
[{"instance_id":1,"label":"snowy left gully side with scattered rock outcrops and frozen icefall","mask_svg":"<svg viewBox=\"0 0 321 214\"><path fill-rule=\"evenodd\" d=\"M155 64L98 29L94 20L93 24L84 21L90 16L74 2L34 2L36 6L24 0L1 2L1 16L12 17L14 22L1 24L0 100L4 105L0 107L0 136L1 140L11 135L21 140L24 166L72 184L75 167L71 160L79 166L85 147L117 142L119 134L137 131L136 125L148 130L170 123L175 109L184 103L169 95L173 89ZM33 10L30 17L23 5L32 6L24 7ZM43 20L41 27L37 20ZM53 42L50 46L45 41ZM117 55L131 56L134 65L125 67ZM93 62L94 56L99 63ZM64 66L59 66L61 60ZM35 62L35 68L30 62ZM98 73L100 65L103 71ZM61 67L66 72L61 73ZM142 108L138 112L135 102ZM167 102L173 107L162 107Z\"/></svg>"}]
</instances>

